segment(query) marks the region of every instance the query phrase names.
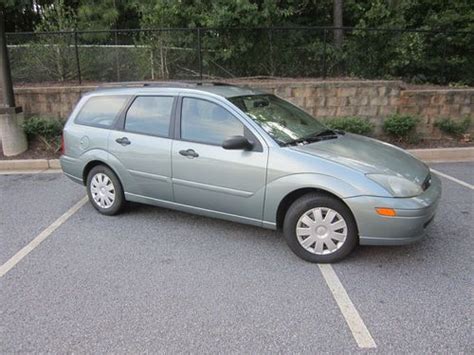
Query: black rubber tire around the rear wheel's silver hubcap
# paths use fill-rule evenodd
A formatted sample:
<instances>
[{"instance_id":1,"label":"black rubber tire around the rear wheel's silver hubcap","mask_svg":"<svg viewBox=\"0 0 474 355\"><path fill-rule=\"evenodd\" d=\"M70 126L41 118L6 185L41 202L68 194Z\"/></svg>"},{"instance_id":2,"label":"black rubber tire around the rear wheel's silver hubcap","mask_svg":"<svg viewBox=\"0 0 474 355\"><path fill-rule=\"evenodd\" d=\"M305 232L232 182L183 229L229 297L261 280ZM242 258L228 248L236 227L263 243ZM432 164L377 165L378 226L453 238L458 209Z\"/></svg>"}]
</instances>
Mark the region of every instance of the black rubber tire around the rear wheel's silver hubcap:
<instances>
[{"instance_id":1,"label":"black rubber tire around the rear wheel's silver hubcap","mask_svg":"<svg viewBox=\"0 0 474 355\"><path fill-rule=\"evenodd\" d=\"M106 207L103 207L98 202L96 202L92 192L92 179L96 175L100 177L100 174L105 175L113 184L114 200L109 206ZM125 197L123 194L123 188L122 184L120 183L120 180L110 168L104 165L94 166L91 171L89 171L89 174L87 175L87 195L89 196L89 201L92 206L94 206L97 211L107 216L113 216L117 214L118 212L120 212L123 205L125 204ZM109 200L107 202L109 202Z\"/></svg>"}]
</instances>

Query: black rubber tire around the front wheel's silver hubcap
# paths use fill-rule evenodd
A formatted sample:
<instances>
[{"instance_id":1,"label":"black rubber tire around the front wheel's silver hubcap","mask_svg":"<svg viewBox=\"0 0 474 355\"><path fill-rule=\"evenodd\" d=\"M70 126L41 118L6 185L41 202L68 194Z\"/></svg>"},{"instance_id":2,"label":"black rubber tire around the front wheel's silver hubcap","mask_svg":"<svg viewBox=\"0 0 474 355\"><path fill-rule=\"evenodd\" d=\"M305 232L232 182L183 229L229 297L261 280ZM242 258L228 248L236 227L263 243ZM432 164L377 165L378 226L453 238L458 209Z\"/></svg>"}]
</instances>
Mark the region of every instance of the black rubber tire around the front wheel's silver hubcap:
<instances>
[{"instance_id":1,"label":"black rubber tire around the front wheel's silver hubcap","mask_svg":"<svg viewBox=\"0 0 474 355\"><path fill-rule=\"evenodd\" d=\"M313 246L315 245L313 243L311 246L313 246L314 252L306 250L298 241L296 234L299 219L309 210L318 207L323 209L330 208L337 212L344 219L347 227L347 235L341 245L339 245L339 242L332 240L338 248L334 252L324 255L315 253L316 247ZM337 221L337 219L335 219L335 221ZM285 215L283 234L290 249L300 258L312 263L332 263L339 261L349 255L358 244L357 225L349 208L337 198L319 193L309 193L293 202ZM309 248L311 249L311 247ZM326 248L326 246L324 246L324 248Z\"/></svg>"}]
</instances>

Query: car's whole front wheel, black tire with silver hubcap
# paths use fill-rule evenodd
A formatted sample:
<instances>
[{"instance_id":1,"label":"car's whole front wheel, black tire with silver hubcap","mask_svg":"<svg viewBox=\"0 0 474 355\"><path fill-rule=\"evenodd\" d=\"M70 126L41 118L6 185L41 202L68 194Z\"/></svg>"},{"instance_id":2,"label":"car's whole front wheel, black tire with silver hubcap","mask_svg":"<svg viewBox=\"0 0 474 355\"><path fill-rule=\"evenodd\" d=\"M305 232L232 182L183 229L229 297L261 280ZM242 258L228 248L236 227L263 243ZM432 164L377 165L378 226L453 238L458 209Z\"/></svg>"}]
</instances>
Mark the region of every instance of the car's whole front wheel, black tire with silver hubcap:
<instances>
[{"instance_id":1,"label":"car's whole front wheel, black tire with silver hubcap","mask_svg":"<svg viewBox=\"0 0 474 355\"><path fill-rule=\"evenodd\" d=\"M317 193L305 195L290 206L283 232L290 249L313 263L341 260L358 239L349 208L334 197Z\"/></svg>"}]
</instances>

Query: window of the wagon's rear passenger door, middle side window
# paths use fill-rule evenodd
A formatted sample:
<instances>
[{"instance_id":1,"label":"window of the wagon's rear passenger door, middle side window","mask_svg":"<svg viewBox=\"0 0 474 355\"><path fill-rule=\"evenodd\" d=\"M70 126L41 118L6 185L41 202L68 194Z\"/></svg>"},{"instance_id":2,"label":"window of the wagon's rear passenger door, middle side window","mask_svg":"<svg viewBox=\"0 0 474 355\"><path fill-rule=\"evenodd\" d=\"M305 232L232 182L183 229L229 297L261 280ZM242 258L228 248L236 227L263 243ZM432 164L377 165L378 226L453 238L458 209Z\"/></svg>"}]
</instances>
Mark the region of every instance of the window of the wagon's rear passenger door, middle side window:
<instances>
[{"instance_id":1,"label":"window of the wagon's rear passenger door, middle side window","mask_svg":"<svg viewBox=\"0 0 474 355\"><path fill-rule=\"evenodd\" d=\"M128 109L125 130L168 137L174 98L138 96Z\"/></svg>"}]
</instances>

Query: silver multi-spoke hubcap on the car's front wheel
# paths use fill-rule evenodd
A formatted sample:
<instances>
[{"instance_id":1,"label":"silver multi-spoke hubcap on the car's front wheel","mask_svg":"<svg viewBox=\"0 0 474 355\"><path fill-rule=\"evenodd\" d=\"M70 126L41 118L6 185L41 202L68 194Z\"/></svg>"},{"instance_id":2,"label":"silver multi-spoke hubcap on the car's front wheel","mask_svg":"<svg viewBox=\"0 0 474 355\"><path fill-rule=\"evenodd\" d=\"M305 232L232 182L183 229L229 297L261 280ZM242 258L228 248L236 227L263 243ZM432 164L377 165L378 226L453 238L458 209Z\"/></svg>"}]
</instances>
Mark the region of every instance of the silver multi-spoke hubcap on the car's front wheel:
<instances>
[{"instance_id":1,"label":"silver multi-spoke hubcap on the car's front wheel","mask_svg":"<svg viewBox=\"0 0 474 355\"><path fill-rule=\"evenodd\" d=\"M347 224L339 213L330 208L313 208L298 220L296 237L301 246L310 253L332 254L344 244Z\"/></svg>"}]
</instances>

